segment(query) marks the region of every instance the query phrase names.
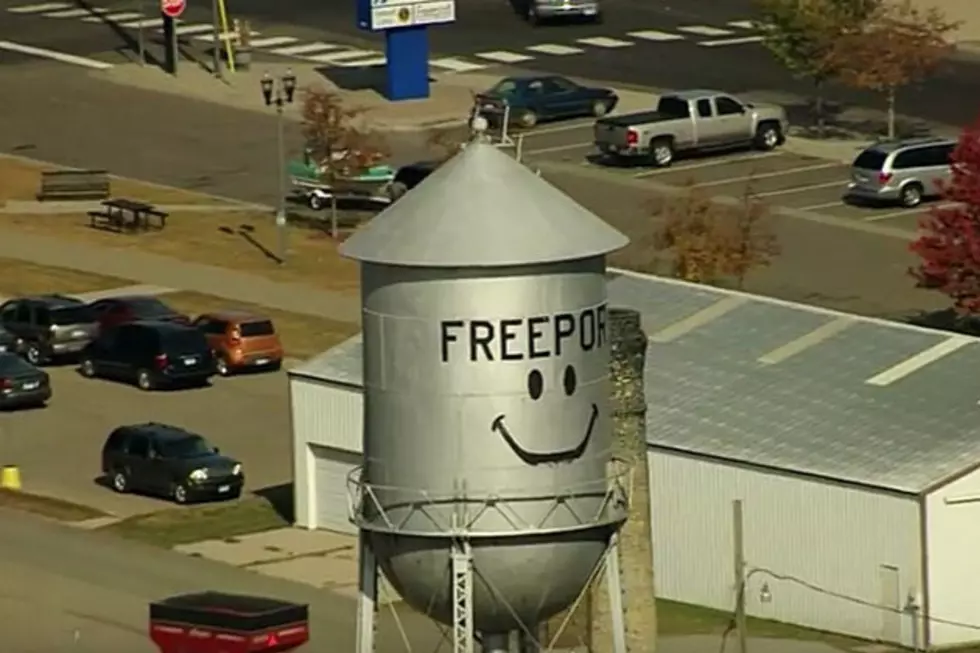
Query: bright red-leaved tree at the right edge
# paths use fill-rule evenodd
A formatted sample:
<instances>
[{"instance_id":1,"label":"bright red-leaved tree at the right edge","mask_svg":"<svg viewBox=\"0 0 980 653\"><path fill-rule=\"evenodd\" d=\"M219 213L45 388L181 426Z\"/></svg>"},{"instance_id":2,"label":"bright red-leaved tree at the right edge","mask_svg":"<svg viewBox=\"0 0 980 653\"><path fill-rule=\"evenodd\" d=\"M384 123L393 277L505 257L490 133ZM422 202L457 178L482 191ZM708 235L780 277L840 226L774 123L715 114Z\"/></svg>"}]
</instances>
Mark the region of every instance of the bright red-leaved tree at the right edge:
<instances>
[{"instance_id":1,"label":"bright red-leaved tree at the right edge","mask_svg":"<svg viewBox=\"0 0 980 653\"><path fill-rule=\"evenodd\" d=\"M953 152L953 177L944 205L919 223L911 270L919 285L949 296L960 313L980 313L980 119L964 130Z\"/></svg>"}]
</instances>

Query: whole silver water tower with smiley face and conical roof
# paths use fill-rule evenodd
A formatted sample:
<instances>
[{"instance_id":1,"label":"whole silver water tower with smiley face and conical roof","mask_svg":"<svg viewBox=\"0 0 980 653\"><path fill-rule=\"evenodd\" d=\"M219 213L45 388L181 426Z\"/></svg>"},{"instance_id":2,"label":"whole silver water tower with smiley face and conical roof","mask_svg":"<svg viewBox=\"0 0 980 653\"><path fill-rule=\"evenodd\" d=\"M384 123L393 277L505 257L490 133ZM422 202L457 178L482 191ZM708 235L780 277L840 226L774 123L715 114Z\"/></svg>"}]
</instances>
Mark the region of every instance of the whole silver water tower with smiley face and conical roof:
<instances>
[{"instance_id":1,"label":"whole silver water tower with smiley face and conical roof","mask_svg":"<svg viewBox=\"0 0 980 653\"><path fill-rule=\"evenodd\" d=\"M457 653L498 653L514 632L533 646L615 562L628 481L610 453L605 257L627 242L478 139L342 246L363 311L358 653L378 566Z\"/></svg>"}]
</instances>

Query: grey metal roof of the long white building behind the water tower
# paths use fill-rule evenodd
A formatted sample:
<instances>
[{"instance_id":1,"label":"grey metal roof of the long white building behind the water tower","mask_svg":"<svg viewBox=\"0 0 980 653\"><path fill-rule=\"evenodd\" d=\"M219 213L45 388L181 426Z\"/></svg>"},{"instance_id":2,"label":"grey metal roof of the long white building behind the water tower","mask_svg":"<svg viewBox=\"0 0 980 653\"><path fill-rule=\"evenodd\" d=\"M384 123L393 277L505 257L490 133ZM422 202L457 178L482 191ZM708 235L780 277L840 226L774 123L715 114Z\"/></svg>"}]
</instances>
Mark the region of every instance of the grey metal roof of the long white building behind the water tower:
<instances>
[{"instance_id":1,"label":"grey metal roof of the long white building behind the water tower","mask_svg":"<svg viewBox=\"0 0 980 653\"><path fill-rule=\"evenodd\" d=\"M976 338L632 273L609 298L650 338L651 444L908 493L980 463ZM360 385L353 341L310 375Z\"/></svg>"}]
</instances>

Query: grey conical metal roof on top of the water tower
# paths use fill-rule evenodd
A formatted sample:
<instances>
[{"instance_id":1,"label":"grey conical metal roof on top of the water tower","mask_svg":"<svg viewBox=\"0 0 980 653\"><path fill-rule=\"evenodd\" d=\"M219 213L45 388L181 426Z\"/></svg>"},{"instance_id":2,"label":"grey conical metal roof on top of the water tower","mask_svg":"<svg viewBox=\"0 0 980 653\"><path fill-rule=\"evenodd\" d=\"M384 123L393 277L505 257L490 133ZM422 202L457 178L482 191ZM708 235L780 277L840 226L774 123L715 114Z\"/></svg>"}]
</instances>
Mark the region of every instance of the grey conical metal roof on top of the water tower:
<instances>
[{"instance_id":1,"label":"grey conical metal roof on top of the water tower","mask_svg":"<svg viewBox=\"0 0 980 653\"><path fill-rule=\"evenodd\" d=\"M342 255L409 267L502 267L601 256L623 234L488 143L471 143L351 236Z\"/></svg>"}]
</instances>

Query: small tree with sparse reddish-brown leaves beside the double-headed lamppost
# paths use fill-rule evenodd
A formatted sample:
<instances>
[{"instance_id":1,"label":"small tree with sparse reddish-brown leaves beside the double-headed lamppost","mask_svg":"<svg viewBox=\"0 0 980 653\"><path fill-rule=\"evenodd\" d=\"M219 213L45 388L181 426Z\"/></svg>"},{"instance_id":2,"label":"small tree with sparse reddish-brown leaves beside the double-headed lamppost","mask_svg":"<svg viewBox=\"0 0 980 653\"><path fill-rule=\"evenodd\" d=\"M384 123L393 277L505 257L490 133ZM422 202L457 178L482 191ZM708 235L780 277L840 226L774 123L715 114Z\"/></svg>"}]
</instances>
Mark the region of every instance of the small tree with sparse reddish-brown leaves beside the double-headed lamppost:
<instances>
[{"instance_id":1,"label":"small tree with sparse reddish-brown leaves beside the double-headed lamppost","mask_svg":"<svg viewBox=\"0 0 980 653\"><path fill-rule=\"evenodd\" d=\"M384 138L367 126L360 107L345 107L337 93L303 90L303 136L320 180L330 189L330 233L337 238L337 194L388 157Z\"/></svg>"}]
</instances>

